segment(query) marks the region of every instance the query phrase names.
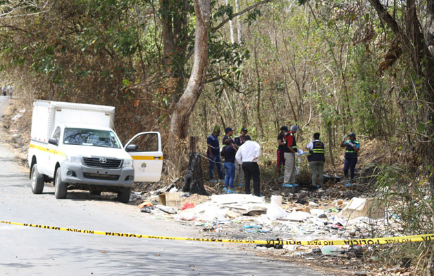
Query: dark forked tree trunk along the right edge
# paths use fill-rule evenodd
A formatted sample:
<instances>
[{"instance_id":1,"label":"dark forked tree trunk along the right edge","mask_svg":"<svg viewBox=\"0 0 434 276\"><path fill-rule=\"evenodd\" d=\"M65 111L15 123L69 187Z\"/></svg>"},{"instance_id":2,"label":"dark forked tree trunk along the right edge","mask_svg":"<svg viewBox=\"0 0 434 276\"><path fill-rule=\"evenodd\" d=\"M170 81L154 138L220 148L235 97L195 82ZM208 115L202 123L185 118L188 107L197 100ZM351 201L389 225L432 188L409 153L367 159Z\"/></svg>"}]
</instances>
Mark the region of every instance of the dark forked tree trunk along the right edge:
<instances>
[{"instance_id":1,"label":"dark forked tree trunk along the right edge","mask_svg":"<svg viewBox=\"0 0 434 276\"><path fill-rule=\"evenodd\" d=\"M413 132L422 139L422 143L417 145L417 149L424 160L431 192L434 194L434 168L432 166L434 163L434 110L432 108L434 103L434 1L426 1L427 6L426 9L424 9L425 14L422 14L423 17L428 19L426 35L422 30L422 21L417 17L417 5L415 0L406 0L405 5L403 1L401 8L404 11L404 20L402 26L389 14L380 0L369 0L369 2L377 11L380 19L382 19L382 21L391 28L396 37L400 39L404 52L409 55L415 75L413 79L414 85L419 86L418 83L422 83L422 85L415 88L417 97L423 101L419 101L416 104L423 106L423 110L420 112L422 114L419 118L420 123Z\"/></svg>"}]
</instances>

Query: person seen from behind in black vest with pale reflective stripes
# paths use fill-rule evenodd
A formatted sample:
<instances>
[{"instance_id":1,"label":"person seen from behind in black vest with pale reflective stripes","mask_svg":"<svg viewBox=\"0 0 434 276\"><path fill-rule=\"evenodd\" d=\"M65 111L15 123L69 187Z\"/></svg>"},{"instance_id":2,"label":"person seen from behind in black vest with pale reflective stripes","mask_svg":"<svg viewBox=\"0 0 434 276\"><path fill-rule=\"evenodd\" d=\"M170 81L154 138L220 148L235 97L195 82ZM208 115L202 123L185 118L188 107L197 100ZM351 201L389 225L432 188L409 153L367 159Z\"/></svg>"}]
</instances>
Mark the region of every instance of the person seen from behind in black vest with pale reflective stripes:
<instances>
[{"instance_id":1,"label":"person seen from behind in black vest with pale reflective stripes","mask_svg":"<svg viewBox=\"0 0 434 276\"><path fill-rule=\"evenodd\" d=\"M313 141L307 144L306 148L309 150L307 155L307 161L309 161L309 167L312 173L312 185L317 186L316 177L318 175L319 185L318 188L322 187L324 184L324 177L322 173L324 172L324 143L320 141L320 133L313 133Z\"/></svg>"}]
</instances>

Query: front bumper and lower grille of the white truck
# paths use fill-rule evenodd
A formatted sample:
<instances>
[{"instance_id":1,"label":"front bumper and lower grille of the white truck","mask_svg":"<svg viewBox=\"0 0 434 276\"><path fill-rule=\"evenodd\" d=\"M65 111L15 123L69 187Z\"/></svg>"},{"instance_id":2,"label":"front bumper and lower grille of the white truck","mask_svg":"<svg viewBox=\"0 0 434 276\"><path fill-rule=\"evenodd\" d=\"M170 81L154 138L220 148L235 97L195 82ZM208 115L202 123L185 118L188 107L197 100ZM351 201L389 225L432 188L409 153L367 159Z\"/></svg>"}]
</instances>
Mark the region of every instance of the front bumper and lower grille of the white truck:
<instances>
[{"instance_id":1,"label":"front bumper and lower grille of the white truck","mask_svg":"<svg viewBox=\"0 0 434 276\"><path fill-rule=\"evenodd\" d=\"M134 184L134 168L93 168L79 163L63 161L62 181L68 184L89 184L130 188Z\"/></svg>"}]
</instances>

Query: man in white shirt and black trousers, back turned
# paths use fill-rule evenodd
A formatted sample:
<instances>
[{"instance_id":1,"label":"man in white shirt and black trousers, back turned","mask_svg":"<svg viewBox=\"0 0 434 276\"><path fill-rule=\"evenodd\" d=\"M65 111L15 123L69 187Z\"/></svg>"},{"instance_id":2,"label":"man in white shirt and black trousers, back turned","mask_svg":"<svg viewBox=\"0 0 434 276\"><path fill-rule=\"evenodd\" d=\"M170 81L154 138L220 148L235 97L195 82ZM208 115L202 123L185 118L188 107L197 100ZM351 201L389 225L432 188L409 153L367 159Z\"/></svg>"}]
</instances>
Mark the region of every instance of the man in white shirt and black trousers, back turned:
<instances>
[{"instance_id":1,"label":"man in white shirt and black trousers, back turned","mask_svg":"<svg viewBox=\"0 0 434 276\"><path fill-rule=\"evenodd\" d=\"M245 192L250 193L250 178L253 178L254 195L260 197L260 171L258 159L260 156L260 146L256 141L251 141L249 135L245 137L245 143L238 148L235 159L238 164L242 164L244 172Z\"/></svg>"}]
</instances>

